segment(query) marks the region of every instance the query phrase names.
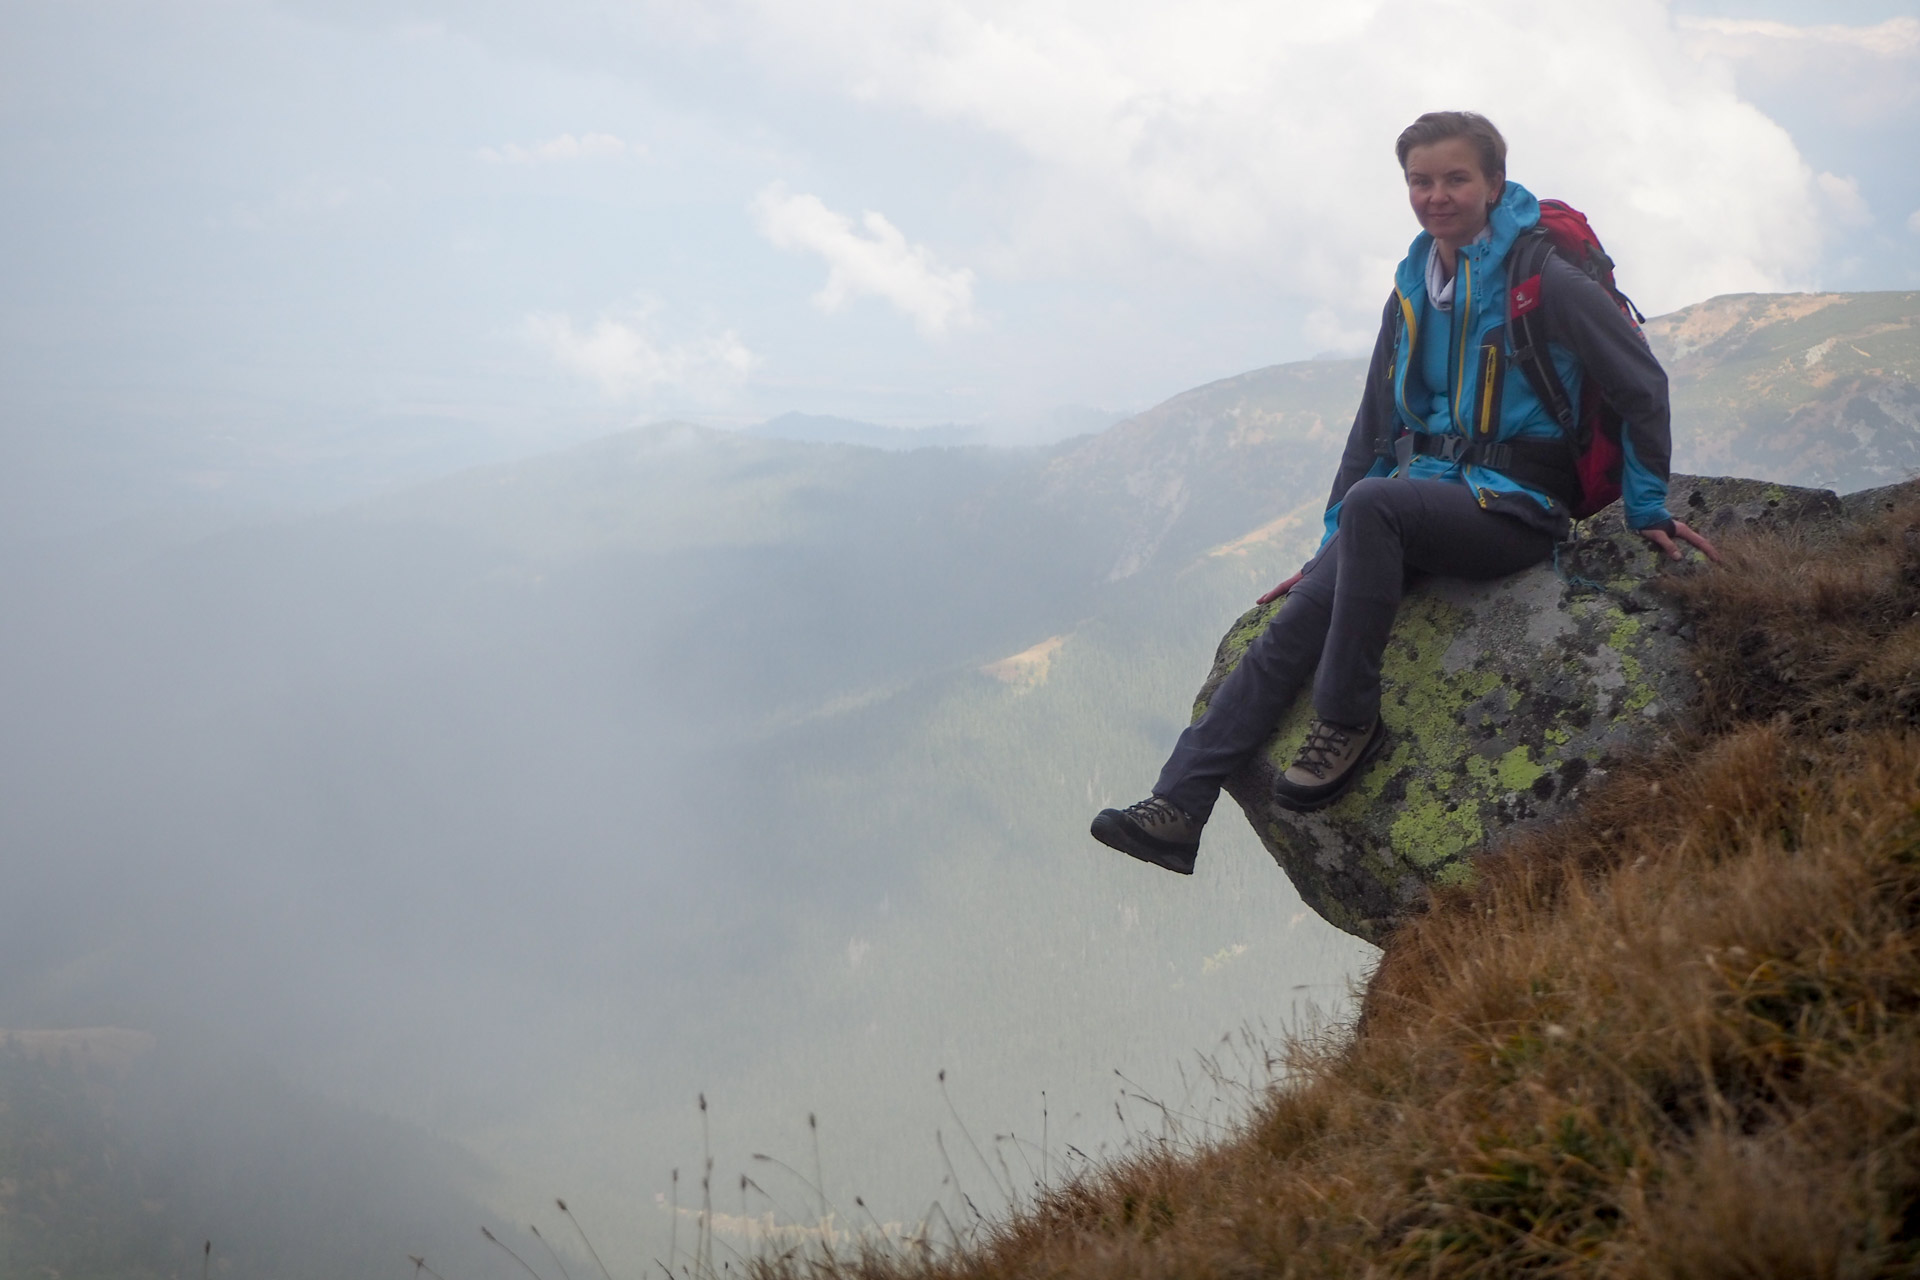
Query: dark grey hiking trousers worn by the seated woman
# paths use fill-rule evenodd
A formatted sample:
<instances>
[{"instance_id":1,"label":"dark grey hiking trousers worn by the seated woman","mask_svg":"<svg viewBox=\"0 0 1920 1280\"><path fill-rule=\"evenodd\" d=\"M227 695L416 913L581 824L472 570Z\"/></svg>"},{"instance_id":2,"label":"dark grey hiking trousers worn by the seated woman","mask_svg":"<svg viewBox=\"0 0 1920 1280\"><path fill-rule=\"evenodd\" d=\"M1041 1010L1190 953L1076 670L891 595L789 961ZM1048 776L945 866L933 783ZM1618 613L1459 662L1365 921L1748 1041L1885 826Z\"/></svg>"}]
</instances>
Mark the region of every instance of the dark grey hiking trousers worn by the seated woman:
<instances>
[{"instance_id":1,"label":"dark grey hiking trousers worn by the seated woman","mask_svg":"<svg viewBox=\"0 0 1920 1280\"><path fill-rule=\"evenodd\" d=\"M1407 572L1505 578L1553 555L1553 533L1482 510L1450 480L1359 480L1340 503L1340 530L1286 593L1286 606L1254 637L1160 770L1154 794L1194 821L1260 750L1313 677L1313 710L1338 725L1380 714L1380 656Z\"/></svg>"}]
</instances>

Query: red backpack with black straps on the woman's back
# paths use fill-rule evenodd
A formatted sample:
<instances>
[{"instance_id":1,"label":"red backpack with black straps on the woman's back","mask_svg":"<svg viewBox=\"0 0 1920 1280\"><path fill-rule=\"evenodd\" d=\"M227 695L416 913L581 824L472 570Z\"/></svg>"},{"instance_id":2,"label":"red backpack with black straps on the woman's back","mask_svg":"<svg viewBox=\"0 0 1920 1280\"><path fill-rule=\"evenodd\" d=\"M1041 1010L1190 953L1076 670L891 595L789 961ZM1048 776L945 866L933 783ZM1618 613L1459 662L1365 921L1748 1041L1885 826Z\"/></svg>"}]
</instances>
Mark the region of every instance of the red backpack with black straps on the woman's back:
<instances>
[{"instance_id":1,"label":"red backpack with black straps on the woman's back","mask_svg":"<svg viewBox=\"0 0 1920 1280\"><path fill-rule=\"evenodd\" d=\"M1521 236L1507 255L1507 336L1513 361L1526 374L1540 403L1561 424L1567 445L1572 449L1574 470L1580 474L1580 495L1571 507L1574 520L1584 520L1620 497L1620 466L1626 455L1620 449L1620 415L1599 393L1594 380L1582 378L1580 403L1571 403L1559 370L1553 368L1553 359L1548 355L1548 338L1538 311L1540 269L1546 267L1549 253L1557 253L1597 280L1620 307L1626 322L1634 326L1640 342L1647 340L1640 328L1647 317L1640 315L1640 307L1613 282L1613 259L1599 248L1599 236L1588 226L1586 215L1561 200L1542 200L1540 225Z\"/></svg>"}]
</instances>

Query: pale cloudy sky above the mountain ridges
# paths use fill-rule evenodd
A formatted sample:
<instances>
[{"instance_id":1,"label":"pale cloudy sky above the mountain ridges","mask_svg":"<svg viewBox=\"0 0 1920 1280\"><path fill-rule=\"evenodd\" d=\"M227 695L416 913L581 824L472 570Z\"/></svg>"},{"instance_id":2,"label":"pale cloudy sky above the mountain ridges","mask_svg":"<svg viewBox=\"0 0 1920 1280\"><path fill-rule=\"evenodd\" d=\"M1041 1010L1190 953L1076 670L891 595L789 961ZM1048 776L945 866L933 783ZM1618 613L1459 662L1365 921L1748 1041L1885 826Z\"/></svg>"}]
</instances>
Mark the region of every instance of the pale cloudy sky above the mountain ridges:
<instances>
[{"instance_id":1,"label":"pale cloudy sky above the mountain ridges","mask_svg":"<svg viewBox=\"0 0 1920 1280\"><path fill-rule=\"evenodd\" d=\"M1647 313L1920 288L1916 12L8 0L0 462L326 499L664 416L1142 409L1365 345L1432 107Z\"/></svg>"}]
</instances>

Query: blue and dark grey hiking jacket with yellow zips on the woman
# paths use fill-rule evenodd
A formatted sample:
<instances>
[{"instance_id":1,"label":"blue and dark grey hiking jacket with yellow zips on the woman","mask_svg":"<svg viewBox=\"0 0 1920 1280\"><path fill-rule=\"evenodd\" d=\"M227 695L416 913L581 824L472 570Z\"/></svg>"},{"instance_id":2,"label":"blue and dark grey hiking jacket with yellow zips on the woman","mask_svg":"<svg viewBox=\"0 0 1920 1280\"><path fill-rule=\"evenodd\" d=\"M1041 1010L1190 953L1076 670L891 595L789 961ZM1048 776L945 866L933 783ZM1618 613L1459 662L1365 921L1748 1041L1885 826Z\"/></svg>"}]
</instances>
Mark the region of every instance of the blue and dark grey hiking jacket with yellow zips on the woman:
<instances>
[{"instance_id":1,"label":"blue and dark grey hiking jacket with yellow zips on the woman","mask_svg":"<svg viewBox=\"0 0 1920 1280\"><path fill-rule=\"evenodd\" d=\"M1519 182L1507 182L1488 219L1490 236L1463 248L1455 259L1452 313L1427 299L1432 236L1423 230L1413 238L1394 273L1394 296L1380 319L1367 388L1327 499L1327 537L1340 528L1340 501L1356 480L1398 474L1390 441L1405 432L1476 436L1486 424L1490 434L1478 436L1482 439L1561 436L1553 413L1511 359L1490 380L1482 351L1492 336L1509 357L1513 353L1505 342L1505 259L1513 242L1538 221L1540 201ZM1540 273L1540 309L1548 351L1567 395L1578 403L1582 378L1596 378L1601 395L1620 413L1626 524L1636 530L1667 526L1672 520L1667 510L1672 455L1667 372L1607 292L1559 257ZM1423 340L1448 344L1446 386L1430 386L1425 376ZM1563 503L1488 466L1413 455L1405 474L1465 484L1488 510L1505 510L1557 535L1567 530Z\"/></svg>"}]
</instances>

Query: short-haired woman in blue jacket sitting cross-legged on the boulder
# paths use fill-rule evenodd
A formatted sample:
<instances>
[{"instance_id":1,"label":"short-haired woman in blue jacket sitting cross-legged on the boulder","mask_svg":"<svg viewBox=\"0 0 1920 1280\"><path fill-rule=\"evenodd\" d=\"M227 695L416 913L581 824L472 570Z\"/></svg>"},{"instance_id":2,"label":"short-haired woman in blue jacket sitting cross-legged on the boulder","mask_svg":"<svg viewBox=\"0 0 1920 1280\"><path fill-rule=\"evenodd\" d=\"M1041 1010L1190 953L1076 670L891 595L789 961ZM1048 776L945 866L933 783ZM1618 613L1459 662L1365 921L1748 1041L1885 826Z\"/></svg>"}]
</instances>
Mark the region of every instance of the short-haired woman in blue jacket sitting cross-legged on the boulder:
<instances>
[{"instance_id":1,"label":"short-haired woman in blue jacket sitting cross-legged on the boulder","mask_svg":"<svg viewBox=\"0 0 1920 1280\"><path fill-rule=\"evenodd\" d=\"M1421 234L1394 280L1373 345L1367 390L1327 501L1319 553L1261 597L1286 606L1248 647L1167 758L1154 794L1102 810L1094 839L1192 875L1200 829L1227 775L1265 743L1313 676L1315 720L1277 783L1296 810L1332 804L1386 741L1380 654L1407 570L1503 578L1553 555L1571 493L1475 464L1475 439L1555 441L1561 428L1524 376L1500 378L1482 401L1475 353L1505 324L1505 257L1540 221L1540 203L1507 182L1507 144L1473 111L1430 111L1400 134L1400 169ZM1667 374L1613 297L1559 257L1540 273L1548 349L1569 399L1596 378L1620 413L1628 528L1678 560L1676 537L1718 558L1667 510ZM1476 418L1476 407L1480 416ZM1388 443L1392 441L1392 443ZM1317 670L1317 674L1315 674Z\"/></svg>"}]
</instances>

